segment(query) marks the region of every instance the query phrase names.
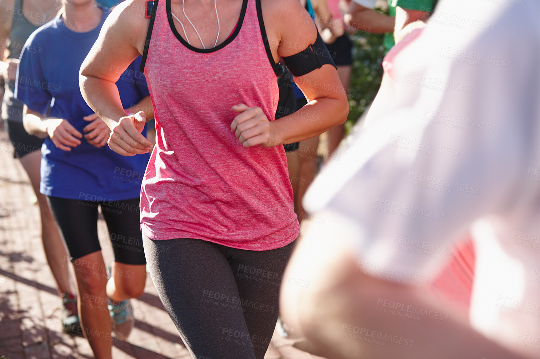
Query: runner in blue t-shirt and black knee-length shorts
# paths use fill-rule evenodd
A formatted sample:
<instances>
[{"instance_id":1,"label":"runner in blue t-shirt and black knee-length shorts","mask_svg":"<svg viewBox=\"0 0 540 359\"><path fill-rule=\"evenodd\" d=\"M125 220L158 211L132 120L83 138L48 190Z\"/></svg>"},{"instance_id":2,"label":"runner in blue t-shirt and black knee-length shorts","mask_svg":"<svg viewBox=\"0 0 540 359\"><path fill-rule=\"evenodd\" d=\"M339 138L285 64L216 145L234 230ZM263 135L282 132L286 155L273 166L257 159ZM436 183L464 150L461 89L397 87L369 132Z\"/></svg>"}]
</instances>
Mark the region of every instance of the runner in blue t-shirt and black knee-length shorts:
<instances>
[{"instance_id":1,"label":"runner in blue t-shirt and black knee-length shorts","mask_svg":"<svg viewBox=\"0 0 540 359\"><path fill-rule=\"evenodd\" d=\"M80 65L109 11L93 0L63 0L62 15L33 32L24 45L15 91L25 104L25 129L45 138L40 192L48 197L69 250L80 321L99 358L111 357L109 316L120 339L129 335L134 319L128 299L143 293L146 278L139 197L149 154L125 157L105 146L110 129L79 90ZM142 110L151 119L152 103L139 65L140 57L116 85L126 113ZM98 206L114 251L109 281L98 241Z\"/></svg>"}]
</instances>

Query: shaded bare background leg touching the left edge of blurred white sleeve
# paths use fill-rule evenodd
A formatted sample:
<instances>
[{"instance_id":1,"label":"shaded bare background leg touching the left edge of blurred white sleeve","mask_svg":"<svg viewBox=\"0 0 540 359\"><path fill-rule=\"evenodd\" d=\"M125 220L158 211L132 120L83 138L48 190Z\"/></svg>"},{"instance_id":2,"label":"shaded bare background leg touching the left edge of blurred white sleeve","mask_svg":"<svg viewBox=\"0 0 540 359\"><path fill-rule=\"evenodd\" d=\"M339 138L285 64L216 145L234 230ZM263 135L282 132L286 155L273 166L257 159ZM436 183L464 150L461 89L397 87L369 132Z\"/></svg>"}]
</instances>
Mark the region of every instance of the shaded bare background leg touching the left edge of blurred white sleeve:
<instances>
[{"instance_id":1,"label":"shaded bare background leg touching the left edge of blurred white sleeve","mask_svg":"<svg viewBox=\"0 0 540 359\"><path fill-rule=\"evenodd\" d=\"M317 171L317 147L319 147L319 136L301 141L297 151L300 157L300 184L298 186L298 220L300 222L306 218L302 198Z\"/></svg>"}]
</instances>

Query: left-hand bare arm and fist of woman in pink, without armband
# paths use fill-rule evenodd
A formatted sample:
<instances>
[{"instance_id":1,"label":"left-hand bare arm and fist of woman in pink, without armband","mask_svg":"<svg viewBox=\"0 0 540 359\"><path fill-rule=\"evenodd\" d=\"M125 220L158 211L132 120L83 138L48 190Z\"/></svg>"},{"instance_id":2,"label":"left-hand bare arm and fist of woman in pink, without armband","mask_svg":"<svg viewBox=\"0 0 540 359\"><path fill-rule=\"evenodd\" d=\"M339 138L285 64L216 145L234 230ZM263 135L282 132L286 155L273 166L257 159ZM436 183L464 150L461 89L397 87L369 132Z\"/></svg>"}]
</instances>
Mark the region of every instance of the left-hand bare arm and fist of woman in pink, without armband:
<instances>
[{"instance_id":1,"label":"left-hand bare arm and fist of woman in pink, without armband","mask_svg":"<svg viewBox=\"0 0 540 359\"><path fill-rule=\"evenodd\" d=\"M153 116L149 99L141 101L146 111L126 116L115 84L127 66L143 52L149 24L144 9L144 0L120 3L107 17L79 74L84 99L113 130L109 147L124 156L147 153L152 148L152 142L140 134L146 115L151 111Z\"/></svg>"}]
</instances>

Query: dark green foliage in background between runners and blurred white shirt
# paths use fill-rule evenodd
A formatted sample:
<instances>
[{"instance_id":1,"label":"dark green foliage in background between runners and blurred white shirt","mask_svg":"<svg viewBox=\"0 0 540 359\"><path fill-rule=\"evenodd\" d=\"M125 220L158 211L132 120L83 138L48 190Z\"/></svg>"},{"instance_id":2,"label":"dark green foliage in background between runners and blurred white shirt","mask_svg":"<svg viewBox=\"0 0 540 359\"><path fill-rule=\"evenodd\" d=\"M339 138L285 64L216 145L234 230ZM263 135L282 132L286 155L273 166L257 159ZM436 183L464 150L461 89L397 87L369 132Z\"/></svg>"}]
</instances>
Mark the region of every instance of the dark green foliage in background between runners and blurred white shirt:
<instances>
[{"instance_id":1,"label":"dark green foliage in background between runners and blurred white shirt","mask_svg":"<svg viewBox=\"0 0 540 359\"><path fill-rule=\"evenodd\" d=\"M349 116L345 122L349 133L356 121L375 98L382 79L383 34L357 31L353 41L353 68L350 75Z\"/></svg>"}]
</instances>

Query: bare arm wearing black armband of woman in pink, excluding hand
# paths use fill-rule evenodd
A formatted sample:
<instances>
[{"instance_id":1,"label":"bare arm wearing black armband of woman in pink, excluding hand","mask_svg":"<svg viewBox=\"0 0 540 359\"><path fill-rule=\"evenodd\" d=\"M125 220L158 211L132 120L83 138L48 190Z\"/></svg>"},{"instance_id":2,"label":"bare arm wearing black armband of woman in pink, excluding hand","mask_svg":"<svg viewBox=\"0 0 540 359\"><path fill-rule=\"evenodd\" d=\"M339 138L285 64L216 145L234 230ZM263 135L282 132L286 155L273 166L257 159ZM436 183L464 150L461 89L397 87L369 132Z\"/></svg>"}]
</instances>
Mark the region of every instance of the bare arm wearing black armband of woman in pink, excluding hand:
<instances>
[{"instance_id":1,"label":"bare arm wearing black armband of woman in pink, excluding hand","mask_svg":"<svg viewBox=\"0 0 540 359\"><path fill-rule=\"evenodd\" d=\"M296 0L262 2L262 14L271 44L274 61L291 56L315 42L317 31L305 9ZM271 121L273 141L263 146L275 146L302 141L319 135L345 122L349 112L346 92L331 65L295 78L296 85L306 95L308 104L294 114Z\"/></svg>"}]
</instances>

